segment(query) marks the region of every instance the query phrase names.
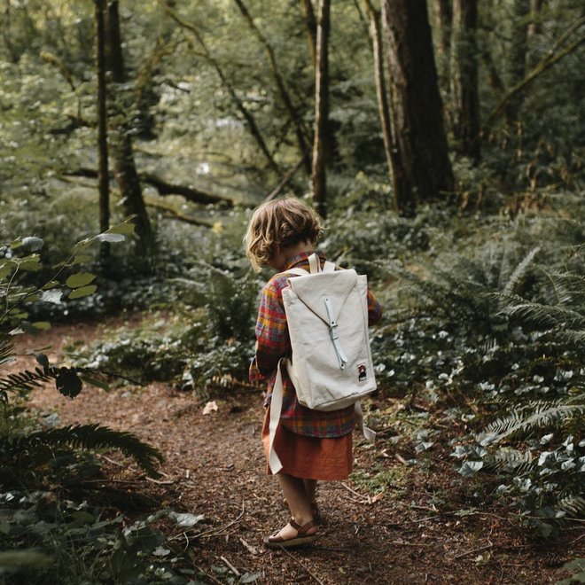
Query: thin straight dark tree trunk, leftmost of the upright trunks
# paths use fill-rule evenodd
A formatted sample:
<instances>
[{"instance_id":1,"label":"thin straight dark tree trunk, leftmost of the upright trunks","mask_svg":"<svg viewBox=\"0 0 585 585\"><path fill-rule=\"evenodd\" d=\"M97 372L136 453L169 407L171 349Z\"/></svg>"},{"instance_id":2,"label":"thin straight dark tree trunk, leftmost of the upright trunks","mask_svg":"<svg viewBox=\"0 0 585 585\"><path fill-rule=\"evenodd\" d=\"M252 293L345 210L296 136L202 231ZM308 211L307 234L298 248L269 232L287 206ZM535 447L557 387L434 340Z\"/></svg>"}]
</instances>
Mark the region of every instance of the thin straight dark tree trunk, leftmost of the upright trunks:
<instances>
[{"instance_id":1,"label":"thin straight dark tree trunk, leftmost of the upright trunks","mask_svg":"<svg viewBox=\"0 0 585 585\"><path fill-rule=\"evenodd\" d=\"M110 182L107 154L107 110L105 85L105 0L95 0L96 22L96 67L98 70L98 191L99 191L99 230L110 227ZM100 261L106 268L110 258L110 244L100 245Z\"/></svg>"}]
</instances>

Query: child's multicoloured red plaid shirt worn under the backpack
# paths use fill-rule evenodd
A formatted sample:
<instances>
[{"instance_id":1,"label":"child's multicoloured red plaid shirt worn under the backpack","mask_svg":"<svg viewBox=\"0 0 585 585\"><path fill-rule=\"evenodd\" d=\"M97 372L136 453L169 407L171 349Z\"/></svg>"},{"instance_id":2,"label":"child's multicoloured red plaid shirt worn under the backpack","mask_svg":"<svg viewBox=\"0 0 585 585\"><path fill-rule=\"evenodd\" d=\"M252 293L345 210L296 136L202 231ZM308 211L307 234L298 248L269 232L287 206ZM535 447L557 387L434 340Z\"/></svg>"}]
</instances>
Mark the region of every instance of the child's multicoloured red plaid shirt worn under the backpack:
<instances>
[{"instance_id":1,"label":"child's multicoloured red plaid shirt worn under the backpack","mask_svg":"<svg viewBox=\"0 0 585 585\"><path fill-rule=\"evenodd\" d=\"M316 253L321 261L324 254ZM287 279L293 277L288 269L301 268L309 270L308 253L300 253L286 261L285 271L270 278L261 294L258 320L256 322L256 355L250 364L250 381L268 381L268 398L277 377L277 363L281 357L291 355L291 339L286 324L285 306L282 290L287 286ZM382 317L382 307L370 292L368 292L368 322L376 324ZM280 421L293 433L308 435L309 437L334 438L351 433L355 425L354 407L345 409L311 410L297 401L291 378L282 369L283 378L283 407Z\"/></svg>"}]
</instances>

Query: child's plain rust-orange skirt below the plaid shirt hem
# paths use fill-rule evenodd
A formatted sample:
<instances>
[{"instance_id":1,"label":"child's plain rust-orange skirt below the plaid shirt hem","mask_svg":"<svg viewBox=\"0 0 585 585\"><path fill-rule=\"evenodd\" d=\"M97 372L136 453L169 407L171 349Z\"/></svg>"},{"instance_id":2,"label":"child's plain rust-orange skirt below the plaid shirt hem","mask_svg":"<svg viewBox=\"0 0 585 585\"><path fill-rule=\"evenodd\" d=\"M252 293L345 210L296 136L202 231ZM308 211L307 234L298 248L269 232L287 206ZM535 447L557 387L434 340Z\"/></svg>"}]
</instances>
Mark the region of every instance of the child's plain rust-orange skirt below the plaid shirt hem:
<instances>
[{"instance_id":1,"label":"child's plain rust-orange skirt below the plaid shirt hem","mask_svg":"<svg viewBox=\"0 0 585 585\"><path fill-rule=\"evenodd\" d=\"M270 409L262 427L262 446L266 454L266 471L271 474L269 457ZM283 464L282 472L302 480L347 480L352 471L353 437L349 433L335 439L319 439L292 433L278 425L274 449Z\"/></svg>"}]
</instances>

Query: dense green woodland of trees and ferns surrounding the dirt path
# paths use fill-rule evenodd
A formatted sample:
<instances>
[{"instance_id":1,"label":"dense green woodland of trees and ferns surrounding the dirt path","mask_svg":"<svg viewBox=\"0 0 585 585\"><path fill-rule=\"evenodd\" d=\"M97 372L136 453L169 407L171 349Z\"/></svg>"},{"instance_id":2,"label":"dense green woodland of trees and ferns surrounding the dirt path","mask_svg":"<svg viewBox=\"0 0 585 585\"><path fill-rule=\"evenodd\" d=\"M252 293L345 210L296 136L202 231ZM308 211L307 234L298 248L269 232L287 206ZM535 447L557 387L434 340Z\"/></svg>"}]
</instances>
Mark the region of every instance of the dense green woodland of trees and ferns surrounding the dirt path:
<instances>
[{"instance_id":1,"label":"dense green woodland of trees and ferns surrounding the dirt path","mask_svg":"<svg viewBox=\"0 0 585 585\"><path fill-rule=\"evenodd\" d=\"M127 582L129 558L136 582L192 577L151 556L188 514L122 532L123 510L56 496L104 448L155 477L157 446L27 401L52 380L70 396L157 380L201 404L247 391L269 272L241 239L283 195L315 205L329 258L385 307L378 447L417 469L450 456L468 505L535 540L580 526L583 44L579 0L3 0L0 579ZM22 335L136 313L13 370ZM395 478L382 462L354 480Z\"/></svg>"}]
</instances>

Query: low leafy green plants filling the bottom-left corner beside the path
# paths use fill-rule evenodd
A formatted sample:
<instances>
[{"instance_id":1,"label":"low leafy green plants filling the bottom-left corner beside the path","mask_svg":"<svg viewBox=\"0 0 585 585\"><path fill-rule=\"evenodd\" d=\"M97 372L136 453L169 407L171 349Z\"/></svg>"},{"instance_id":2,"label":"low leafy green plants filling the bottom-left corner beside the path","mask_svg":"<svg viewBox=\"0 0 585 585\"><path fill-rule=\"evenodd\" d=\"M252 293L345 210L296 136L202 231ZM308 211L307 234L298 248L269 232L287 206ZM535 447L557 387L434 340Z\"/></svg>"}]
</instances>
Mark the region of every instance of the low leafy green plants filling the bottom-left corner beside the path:
<instances>
[{"instance_id":1,"label":"low leafy green plants filling the bottom-left corner beside the path","mask_svg":"<svg viewBox=\"0 0 585 585\"><path fill-rule=\"evenodd\" d=\"M0 494L0 574L7 583L188 583L197 578L191 553L175 545L175 531L197 530L203 516L161 510L145 519L112 516L89 503L51 492ZM166 523L163 534L161 523ZM26 547L26 548L25 548ZM32 581L27 581L32 582Z\"/></svg>"}]
</instances>

